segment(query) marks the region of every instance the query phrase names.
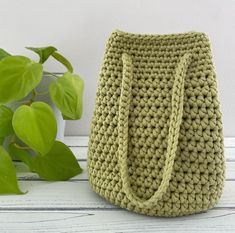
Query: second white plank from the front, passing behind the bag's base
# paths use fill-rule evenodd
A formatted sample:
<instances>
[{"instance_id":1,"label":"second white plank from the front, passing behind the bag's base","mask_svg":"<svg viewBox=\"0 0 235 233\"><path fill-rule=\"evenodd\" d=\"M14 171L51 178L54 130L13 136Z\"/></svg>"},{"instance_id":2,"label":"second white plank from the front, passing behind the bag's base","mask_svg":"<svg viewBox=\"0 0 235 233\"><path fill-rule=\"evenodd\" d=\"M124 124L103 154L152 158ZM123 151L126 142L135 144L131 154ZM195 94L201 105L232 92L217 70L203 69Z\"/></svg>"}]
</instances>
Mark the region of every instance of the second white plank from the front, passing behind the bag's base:
<instances>
[{"instance_id":1,"label":"second white plank from the front, passing behind the bag's base","mask_svg":"<svg viewBox=\"0 0 235 233\"><path fill-rule=\"evenodd\" d=\"M4 209L79 209L114 208L92 191L87 181L46 182L19 181L25 195L0 196L0 210ZM235 182L226 181L218 207L235 208Z\"/></svg>"}]
</instances>

